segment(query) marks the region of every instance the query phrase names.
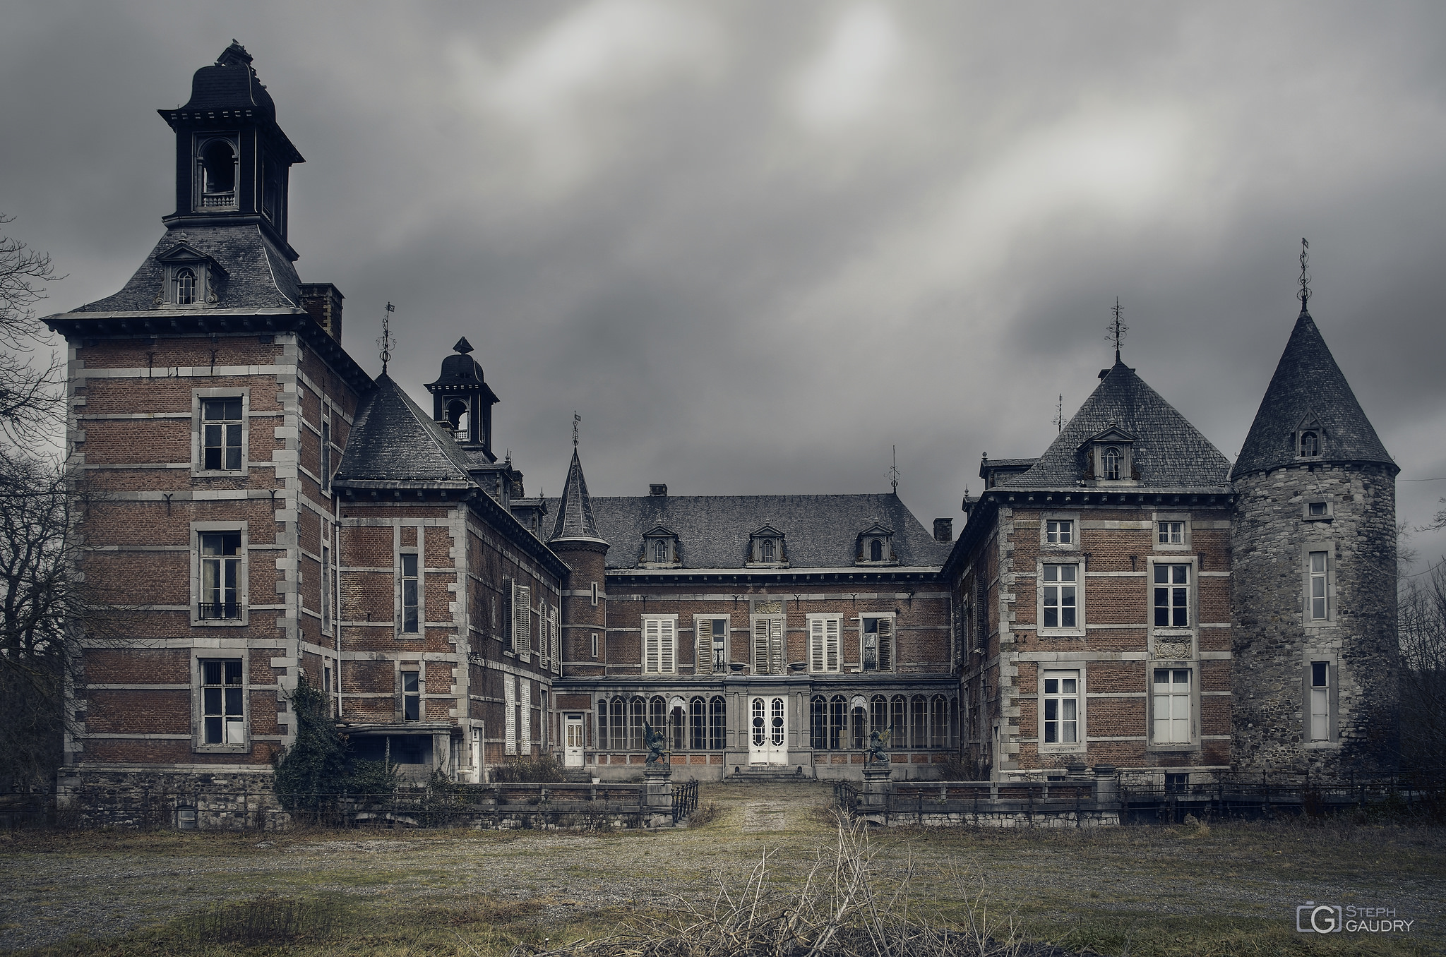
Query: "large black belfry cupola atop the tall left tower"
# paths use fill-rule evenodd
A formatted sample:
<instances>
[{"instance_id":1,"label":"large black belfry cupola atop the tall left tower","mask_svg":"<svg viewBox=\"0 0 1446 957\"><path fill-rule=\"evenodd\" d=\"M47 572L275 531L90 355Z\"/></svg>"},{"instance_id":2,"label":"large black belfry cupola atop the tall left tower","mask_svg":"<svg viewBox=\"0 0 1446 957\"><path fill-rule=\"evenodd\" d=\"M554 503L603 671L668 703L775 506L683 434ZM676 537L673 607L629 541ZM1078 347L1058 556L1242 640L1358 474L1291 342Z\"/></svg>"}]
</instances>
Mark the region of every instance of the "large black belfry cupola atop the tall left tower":
<instances>
[{"instance_id":1,"label":"large black belfry cupola atop the tall left tower","mask_svg":"<svg viewBox=\"0 0 1446 957\"><path fill-rule=\"evenodd\" d=\"M256 224L295 262L286 241L288 179L305 160L276 126L276 104L246 48L231 40L214 65L195 71L185 106L158 113L176 134L176 211L165 224Z\"/></svg>"}]
</instances>

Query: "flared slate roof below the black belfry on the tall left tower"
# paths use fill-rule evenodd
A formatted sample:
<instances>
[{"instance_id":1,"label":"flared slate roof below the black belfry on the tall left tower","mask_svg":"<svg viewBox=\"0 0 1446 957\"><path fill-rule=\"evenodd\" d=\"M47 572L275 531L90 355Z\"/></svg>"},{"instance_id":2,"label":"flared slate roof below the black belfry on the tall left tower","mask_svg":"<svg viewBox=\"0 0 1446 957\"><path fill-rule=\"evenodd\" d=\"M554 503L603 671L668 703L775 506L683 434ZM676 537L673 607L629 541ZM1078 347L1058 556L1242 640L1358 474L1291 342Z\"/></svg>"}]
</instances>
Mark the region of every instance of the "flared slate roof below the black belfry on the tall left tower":
<instances>
[{"instance_id":1,"label":"flared slate roof below the black belfry on the tall left tower","mask_svg":"<svg viewBox=\"0 0 1446 957\"><path fill-rule=\"evenodd\" d=\"M184 239L182 239L184 237ZM179 244L187 244L214 259L226 276L217 283L213 306L158 306L156 296L165 298L163 256ZM205 312L221 309L299 309L301 279L291 259L262 233L259 226L194 226L178 224L166 230L150 250L136 275L113 296L80 306L75 312Z\"/></svg>"}]
</instances>

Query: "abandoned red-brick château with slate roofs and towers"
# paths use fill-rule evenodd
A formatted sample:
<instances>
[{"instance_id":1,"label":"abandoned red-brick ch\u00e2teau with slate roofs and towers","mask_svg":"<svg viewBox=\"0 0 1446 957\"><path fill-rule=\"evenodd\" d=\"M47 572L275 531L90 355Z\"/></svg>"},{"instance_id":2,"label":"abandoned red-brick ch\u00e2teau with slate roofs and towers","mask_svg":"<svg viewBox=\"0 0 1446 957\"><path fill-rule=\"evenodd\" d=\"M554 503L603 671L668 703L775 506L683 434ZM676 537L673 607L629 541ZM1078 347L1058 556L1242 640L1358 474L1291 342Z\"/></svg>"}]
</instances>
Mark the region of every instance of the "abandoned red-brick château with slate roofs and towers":
<instances>
[{"instance_id":1,"label":"abandoned red-brick ch\u00e2teau with slate roofs and towers","mask_svg":"<svg viewBox=\"0 0 1446 957\"><path fill-rule=\"evenodd\" d=\"M466 337L424 408L298 276L252 56L159 113L165 234L48 318L82 572L134 629L85 646L62 786L269 775L302 675L419 778L630 778L645 723L680 778L859 776L872 730L895 779L1391 769L1397 465L1309 295L1233 464L1116 353L1038 458L983 458L957 536L892 493L594 497L576 442L529 497Z\"/></svg>"}]
</instances>

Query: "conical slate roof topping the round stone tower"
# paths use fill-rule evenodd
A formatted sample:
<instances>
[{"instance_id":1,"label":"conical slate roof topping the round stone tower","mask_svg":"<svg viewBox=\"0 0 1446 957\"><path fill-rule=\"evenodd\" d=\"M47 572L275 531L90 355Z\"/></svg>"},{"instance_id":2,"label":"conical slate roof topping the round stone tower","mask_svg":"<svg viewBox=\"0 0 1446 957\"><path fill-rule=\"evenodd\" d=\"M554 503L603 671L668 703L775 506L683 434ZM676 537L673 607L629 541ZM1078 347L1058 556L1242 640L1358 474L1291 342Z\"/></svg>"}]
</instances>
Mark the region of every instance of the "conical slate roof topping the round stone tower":
<instances>
[{"instance_id":1,"label":"conical slate roof topping the round stone tower","mask_svg":"<svg viewBox=\"0 0 1446 957\"><path fill-rule=\"evenodd\" d=\"M1301 308L1231 476L1239 478L1299 461L1296 431L1307 418L1325 432L1319 461L1395 467L1314 319Z\"/></svg>"}]
</instances>

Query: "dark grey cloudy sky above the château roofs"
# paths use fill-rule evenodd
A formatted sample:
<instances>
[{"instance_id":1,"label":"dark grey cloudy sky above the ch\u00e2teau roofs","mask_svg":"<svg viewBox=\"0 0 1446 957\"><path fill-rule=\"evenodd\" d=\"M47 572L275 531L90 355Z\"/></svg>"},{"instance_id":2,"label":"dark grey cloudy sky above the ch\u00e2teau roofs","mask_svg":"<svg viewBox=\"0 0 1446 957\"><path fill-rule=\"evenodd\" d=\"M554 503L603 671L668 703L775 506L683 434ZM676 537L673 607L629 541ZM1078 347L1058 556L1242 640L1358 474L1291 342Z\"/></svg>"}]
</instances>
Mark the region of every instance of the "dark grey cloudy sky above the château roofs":
<instances>
[{"instance_id":1,"label":"dark grey cloudy sky above the ch\u00e2teau roofs","mask_svg":"<svg viewBox=\"0 0 1446 957\"><path fill-rule=\"evenodd\" d=\"M0 210L114 292L171 211L158 107L240 39L307 158L304 280L367 369L455 338L497 444L594 494L879 492L959 519L1112 356L1235 457L1312 312L1401 478L1446 477L1439 3L3 4ZM1401 481L1423 523L1446 481ZM1424 559L1446 536L1420 535Z\"/></svg>"}]
</instances>

